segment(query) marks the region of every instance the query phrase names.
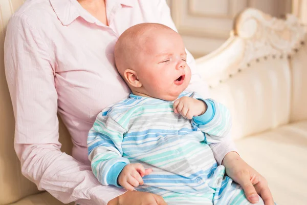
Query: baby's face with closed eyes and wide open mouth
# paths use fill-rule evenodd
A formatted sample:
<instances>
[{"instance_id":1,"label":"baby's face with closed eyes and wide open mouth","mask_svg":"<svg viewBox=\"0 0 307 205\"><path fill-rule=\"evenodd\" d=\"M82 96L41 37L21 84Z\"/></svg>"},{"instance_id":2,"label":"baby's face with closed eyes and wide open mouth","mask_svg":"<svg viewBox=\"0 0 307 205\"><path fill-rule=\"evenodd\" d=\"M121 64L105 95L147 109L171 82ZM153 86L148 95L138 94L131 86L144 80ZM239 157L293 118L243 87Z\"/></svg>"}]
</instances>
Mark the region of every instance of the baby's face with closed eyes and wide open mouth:
<instances>
[{"instance_id":1,"label":"baby's face with closed eyes and wide open mouth","mask_svg":"<svg viewBox=\"0 0 307 205\"><path fill-rule=\"evenodd\" d=\"M172 101L189 85L191 70L181 36L174 31L153 31L144 41L136 65L150 97Z\"/></svg>"}]
</instances>

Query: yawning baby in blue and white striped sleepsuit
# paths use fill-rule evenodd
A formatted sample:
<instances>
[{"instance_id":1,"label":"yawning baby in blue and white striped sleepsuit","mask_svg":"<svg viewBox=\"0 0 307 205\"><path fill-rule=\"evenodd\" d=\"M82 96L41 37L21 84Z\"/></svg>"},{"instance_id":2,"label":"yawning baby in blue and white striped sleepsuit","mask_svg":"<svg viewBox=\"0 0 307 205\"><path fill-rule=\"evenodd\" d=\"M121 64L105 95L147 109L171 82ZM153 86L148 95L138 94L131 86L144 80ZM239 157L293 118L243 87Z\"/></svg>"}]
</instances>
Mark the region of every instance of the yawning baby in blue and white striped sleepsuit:
<instances>
[{"instance_id":1,"label":"yawning baby in blue and white striped sleepsuit","mask_svg":"<svg viewBox=\"0 0 307 205\"><path fill-rule=\"evenodd\" d=\"M102 185L168 204L250 204L209 147L229 134L230 113L185 91L186 57L181 36L164 25L139 24L119 37L115 62L131 94L97 116L87 139L92 170Z\"/></svg>"}]
</instances>

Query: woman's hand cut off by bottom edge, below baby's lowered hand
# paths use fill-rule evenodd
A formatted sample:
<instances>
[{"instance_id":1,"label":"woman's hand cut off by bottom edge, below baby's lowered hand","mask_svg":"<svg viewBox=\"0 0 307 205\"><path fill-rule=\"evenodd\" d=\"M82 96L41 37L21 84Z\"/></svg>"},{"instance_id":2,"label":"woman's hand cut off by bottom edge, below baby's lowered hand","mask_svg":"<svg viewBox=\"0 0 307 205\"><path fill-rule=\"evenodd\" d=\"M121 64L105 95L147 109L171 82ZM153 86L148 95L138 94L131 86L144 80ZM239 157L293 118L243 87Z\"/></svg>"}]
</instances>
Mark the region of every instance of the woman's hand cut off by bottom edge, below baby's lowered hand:
<instances>
[{"instance_id":1,"label":"woman's hand cut off by bottom edge, below baby's lowered hand","mask_svg":"<svg viewBox=\"0 0 307 205\"><path fill-rule=\"evenodd\" d=\"M167 205L162 196L148 192L127 191L112 199L107 205Z\"/></svg>"}]
</instances>

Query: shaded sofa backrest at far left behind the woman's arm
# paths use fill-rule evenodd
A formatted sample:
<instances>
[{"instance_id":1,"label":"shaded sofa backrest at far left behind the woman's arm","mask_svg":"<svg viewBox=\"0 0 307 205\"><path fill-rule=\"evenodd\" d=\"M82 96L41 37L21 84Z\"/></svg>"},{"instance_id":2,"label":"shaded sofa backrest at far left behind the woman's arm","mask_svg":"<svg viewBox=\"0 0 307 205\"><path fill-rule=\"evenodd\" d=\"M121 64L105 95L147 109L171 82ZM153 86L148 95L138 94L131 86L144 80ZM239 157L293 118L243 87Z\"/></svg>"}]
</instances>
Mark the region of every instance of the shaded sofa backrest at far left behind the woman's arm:
<instances>
[{"instance_id":1,"label":"shaded sofa backrest at far left behind the woman's arm","mask_svg":"<svg viewBox=\"0 0 307 205\"><path fill-rule=\"evenodd\" d=\"M21 174L20 161L14 151L15 121L4 72L6 25L23 3L23 0L0 0L0 204L12 203L39 192L35 184ZM70 154L72 142L61 120L59 132L61 150Z\"/></svg>"}]
</instances>

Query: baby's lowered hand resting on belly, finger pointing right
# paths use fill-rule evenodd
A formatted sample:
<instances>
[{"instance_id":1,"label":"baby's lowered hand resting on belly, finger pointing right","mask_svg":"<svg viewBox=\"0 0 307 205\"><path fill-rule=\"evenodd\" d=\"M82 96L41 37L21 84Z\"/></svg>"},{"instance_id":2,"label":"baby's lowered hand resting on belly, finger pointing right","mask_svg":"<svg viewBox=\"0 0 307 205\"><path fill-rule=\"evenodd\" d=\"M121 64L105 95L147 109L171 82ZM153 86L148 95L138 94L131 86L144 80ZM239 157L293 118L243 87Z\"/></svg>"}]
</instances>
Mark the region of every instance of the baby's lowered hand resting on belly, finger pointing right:
<instances>
[{"instance_id":1,"label":"baby's lowered hand resting on belly, finger pointing right","mask_svg":"<svg viewBox=\"0 0 307 205\"><path fill-rule=\"evenodd\" d=\"M142 177L150 174L151 169L144 169L140 163L129 163L118 176L118 183L126 190L133 191L135 187L143 185Z\"/></svg>"}]
</instances>

